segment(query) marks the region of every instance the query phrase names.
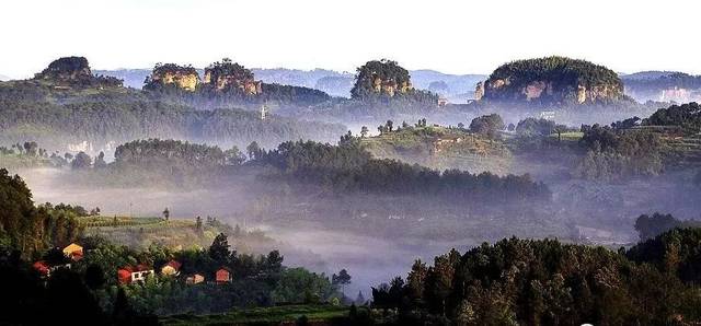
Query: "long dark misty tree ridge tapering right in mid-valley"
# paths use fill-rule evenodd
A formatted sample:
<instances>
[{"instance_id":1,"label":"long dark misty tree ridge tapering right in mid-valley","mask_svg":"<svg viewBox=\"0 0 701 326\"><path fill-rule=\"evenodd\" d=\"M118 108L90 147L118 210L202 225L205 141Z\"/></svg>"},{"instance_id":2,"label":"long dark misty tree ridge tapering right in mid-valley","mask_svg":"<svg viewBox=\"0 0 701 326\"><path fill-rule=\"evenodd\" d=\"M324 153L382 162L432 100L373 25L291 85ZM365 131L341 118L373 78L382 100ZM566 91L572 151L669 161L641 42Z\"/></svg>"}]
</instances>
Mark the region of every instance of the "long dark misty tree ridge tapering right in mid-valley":
<instances>
[{"instance_id":1,"label":"long dark misty tree ridge tapering right in mid-valley","mask_svg":"<svg viewBox=\"0 0 701 326\"><path fill-rule=\"evenodd\" d=\"M550 190L530 176L443 173L394 160L372 159L357 139L338 145L313 141L284 142L262 152L256 164L277 167L281 177L327 187L337 193L443 196L453 200L510 201L549 199Z\"/></svg>"}]
</instances>

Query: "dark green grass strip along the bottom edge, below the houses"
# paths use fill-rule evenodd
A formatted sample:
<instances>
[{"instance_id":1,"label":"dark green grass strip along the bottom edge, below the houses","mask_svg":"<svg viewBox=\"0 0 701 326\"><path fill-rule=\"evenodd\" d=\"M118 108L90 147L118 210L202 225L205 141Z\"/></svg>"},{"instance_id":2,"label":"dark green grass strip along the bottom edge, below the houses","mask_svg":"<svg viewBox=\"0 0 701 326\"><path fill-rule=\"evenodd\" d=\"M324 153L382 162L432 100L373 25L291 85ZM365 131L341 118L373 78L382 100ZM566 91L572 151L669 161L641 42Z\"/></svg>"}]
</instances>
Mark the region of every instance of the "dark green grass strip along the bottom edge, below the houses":
<instances>
[{"instance_id":1,"label":"dark green grass strip along the bottom edge, below the houses","mask_svg":"<svg viewBox=\"0 0 701 326\"><path fill-rule=\"evenodd\" d=\"M174 315L161 318L163 325L279 325L295 323L301 316L309 322L332 322L348 316L347 306L284 305L234 308L217 315Z\"/></svg>"}]
</instances>

